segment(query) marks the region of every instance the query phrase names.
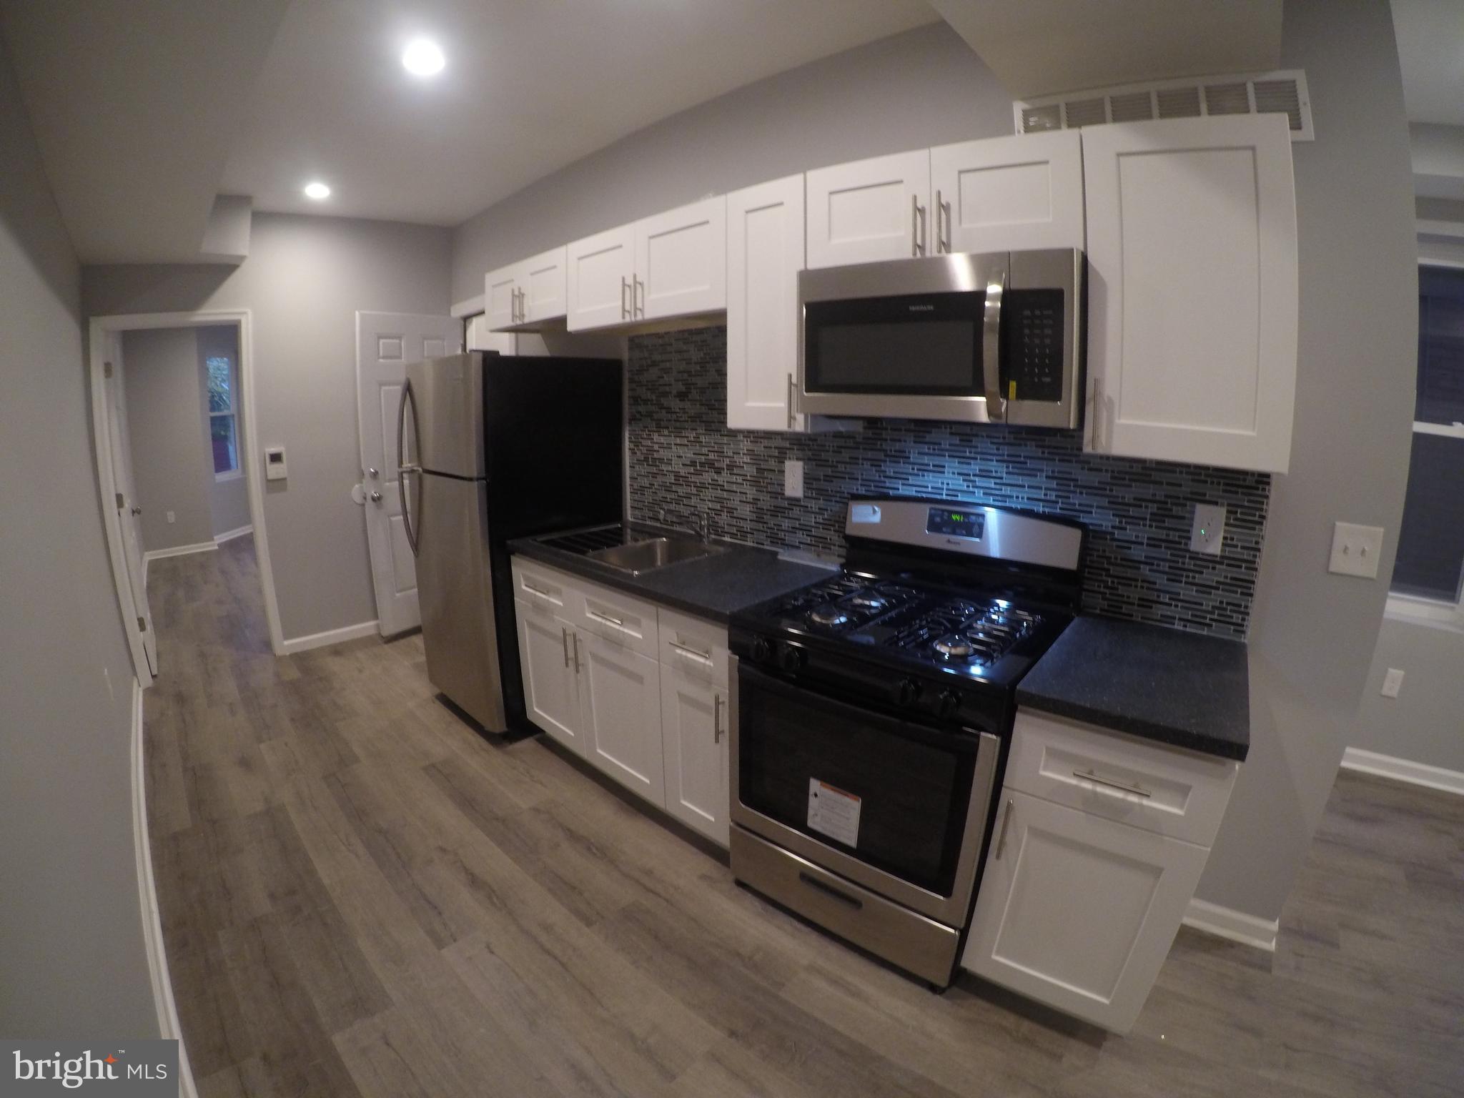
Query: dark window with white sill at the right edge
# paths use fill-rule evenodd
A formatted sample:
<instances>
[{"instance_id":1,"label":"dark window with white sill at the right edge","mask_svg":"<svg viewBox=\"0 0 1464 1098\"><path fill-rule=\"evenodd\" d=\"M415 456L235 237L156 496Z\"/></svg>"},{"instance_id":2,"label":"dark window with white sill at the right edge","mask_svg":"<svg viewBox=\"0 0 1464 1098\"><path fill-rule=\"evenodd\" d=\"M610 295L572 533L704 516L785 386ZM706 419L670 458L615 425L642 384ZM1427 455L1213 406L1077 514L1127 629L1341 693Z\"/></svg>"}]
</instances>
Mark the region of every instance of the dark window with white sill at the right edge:
<instances>
[{"instance_id":1,"label":"dark window with white sill at the right edge","mask_svg":"<svg viewBox=\"0 0 1464 1098\"><path fill-rule=\"evenodd\" d=\"M1413 464L1388 609L1464 625L1464 268L1419 268Z\"/></svg>"}]
</instances>

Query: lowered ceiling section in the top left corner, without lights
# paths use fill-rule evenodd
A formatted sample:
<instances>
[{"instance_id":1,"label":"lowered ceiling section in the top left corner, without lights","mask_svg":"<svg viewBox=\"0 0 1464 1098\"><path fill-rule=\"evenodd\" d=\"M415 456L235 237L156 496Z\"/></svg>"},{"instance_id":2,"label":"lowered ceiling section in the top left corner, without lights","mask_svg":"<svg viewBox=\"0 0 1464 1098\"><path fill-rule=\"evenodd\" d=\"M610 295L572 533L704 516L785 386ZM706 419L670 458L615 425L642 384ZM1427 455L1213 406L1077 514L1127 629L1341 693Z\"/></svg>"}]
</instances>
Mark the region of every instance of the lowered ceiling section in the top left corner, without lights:
<instances>
[{"instance_id":1,"label":"lowered ceiling section in the top left corner, without lights","mask_svg":"<svg viewBox=\"0 0 1464 1098\"><path fill-rule=\"evenodd\" d=\"M198 259L287 3L0 3L41 161L85 262Z\"/></svg>"}]
</instances>

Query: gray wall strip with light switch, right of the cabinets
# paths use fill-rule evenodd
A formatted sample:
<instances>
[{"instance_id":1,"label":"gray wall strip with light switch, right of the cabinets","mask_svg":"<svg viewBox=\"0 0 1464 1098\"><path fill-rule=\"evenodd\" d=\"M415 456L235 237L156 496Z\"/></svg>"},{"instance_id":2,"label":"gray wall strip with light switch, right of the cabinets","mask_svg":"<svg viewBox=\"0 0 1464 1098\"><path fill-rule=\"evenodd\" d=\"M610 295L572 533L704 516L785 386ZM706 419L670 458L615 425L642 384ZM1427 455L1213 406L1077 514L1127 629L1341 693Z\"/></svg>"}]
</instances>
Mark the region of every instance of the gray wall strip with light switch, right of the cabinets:
<instances>
[{"instance_id":1,"label":"gray wall strip with light switch, right of the cabinets","mask_svg":"<svg viewBox=\"0 0 1464 1098\"><path fill-rule=\"evenodd\" d=\"M1357 723L1408 473L1417 269L1408 127L1385 0L1287 0L1316 141L1296 157L1300 346L1250 624L1252 748L1199 895L1277 918ZM1366 302L1366 307L1359 307ZM1326 571L1337 520L1388 531L1379 578Z\"/></svg>"}]
</instances>

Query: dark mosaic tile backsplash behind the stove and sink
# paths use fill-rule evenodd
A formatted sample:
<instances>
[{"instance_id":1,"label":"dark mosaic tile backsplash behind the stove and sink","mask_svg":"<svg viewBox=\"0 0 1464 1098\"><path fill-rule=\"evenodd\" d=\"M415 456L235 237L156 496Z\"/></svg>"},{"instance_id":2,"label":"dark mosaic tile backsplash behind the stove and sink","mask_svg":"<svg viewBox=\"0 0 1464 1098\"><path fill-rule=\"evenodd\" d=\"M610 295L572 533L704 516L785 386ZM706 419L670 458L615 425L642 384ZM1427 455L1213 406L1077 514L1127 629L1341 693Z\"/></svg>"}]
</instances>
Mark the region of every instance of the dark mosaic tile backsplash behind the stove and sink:
<instances>
[{"instance_id":1,"label":"dark mosaic tile backsplash behind the stove and sink","mask_svg":"<svg viewBox=\"0 0 1464 1098\"><path fill-rule=\"evenodd\" d=\"M630 512L713 533L843 555L852 495L925 495L1022 507L1088 524L1083 609L1244 638L1271 477L1083 454L1078 432L868 420L861 430L728 430L726 328L630 341ZM783 461L804 498L783 496ZM1225 505L1221 556L1190 552L1195 504Z\"/></svg>"}]
</instances>

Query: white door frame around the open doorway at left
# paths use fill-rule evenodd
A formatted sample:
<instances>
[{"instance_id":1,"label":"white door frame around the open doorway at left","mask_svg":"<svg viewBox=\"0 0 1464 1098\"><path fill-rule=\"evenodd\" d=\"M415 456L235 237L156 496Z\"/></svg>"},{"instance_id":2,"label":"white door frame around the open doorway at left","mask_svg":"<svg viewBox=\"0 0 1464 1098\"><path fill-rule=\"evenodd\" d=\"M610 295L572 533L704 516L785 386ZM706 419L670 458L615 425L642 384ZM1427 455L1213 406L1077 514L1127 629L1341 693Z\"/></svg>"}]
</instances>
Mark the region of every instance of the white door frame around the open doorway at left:
<instances>
[{"instance_id":1,"label":"white door frame around the open doorway at left","mask_svg":"<svg viewBox=\"0 0 1464 1098\"><path fill-rule=\"evenodd\" d=\"M148 328L209 328L234 326L239 329L239 389L243 401L244 430L240 439L240 467L249 488L249 520L253 524L255 555L259 561L259 583L265 596L265 619L269 622L269 647L277 656L284 654L284 635L280 631L280 603L275 599L274 569L269 565L269 539L265 533L264 488L255 455L259 452L258 423L255 419L255 347L253 318L249 309L208 309L186 313L119 313L114 316L92 316L88 325L88 362L91 367L92 403L92 455L97 460L97 489L101 504L102 526L107 531L107 553L111 558L113 586L117 591L117 606L122 619L132 622L138 608L127 580L127 562L123 552L122 523L113 505L117 493L117 476L111 464L111 427L107 420L105 357L107 340L111 332L122 335ZM123 360L126 369L126 360ZM132 651L132 666L138 682L152 684L152 672L142 647L142 637L127 628L127 649Z\"/></svg>"}]
</instances>

